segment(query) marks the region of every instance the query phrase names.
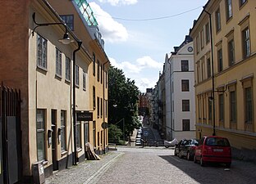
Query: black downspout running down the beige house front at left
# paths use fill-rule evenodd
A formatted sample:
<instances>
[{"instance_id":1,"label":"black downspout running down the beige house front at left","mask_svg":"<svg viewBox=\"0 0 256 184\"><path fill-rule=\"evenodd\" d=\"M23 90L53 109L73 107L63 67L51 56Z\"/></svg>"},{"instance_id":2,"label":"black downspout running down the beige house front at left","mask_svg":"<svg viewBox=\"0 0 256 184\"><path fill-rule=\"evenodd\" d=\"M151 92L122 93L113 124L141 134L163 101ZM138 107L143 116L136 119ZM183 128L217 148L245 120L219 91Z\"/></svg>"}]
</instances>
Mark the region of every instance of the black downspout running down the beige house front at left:
<instances>
[{"instance_id":1,"label":"black downspout running down the beige house front at left","mask_svg":"<svg viewBox=\"0 0 256 184\"><path fill-rule=\"evenodd\" d=\"M78 47L73 52L73 133L74 133L74 155L73 155L73 165L76 165L76 141L75 141L75 53L78 52L81 48L82 42L80 40L77 41Z\"/></svg>"}]
</instances>

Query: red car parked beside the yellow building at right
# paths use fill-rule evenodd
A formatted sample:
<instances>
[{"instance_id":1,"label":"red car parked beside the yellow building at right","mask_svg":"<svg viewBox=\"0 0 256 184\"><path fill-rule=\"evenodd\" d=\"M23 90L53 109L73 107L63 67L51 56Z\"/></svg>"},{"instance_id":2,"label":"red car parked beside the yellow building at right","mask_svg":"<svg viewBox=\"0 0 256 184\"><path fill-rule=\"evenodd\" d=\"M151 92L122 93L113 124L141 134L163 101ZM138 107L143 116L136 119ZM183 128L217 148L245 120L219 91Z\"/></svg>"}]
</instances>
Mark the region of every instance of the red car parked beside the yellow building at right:
<instances>
[{"instance_id":1,"label":"red car parked beside the yellow building at right","mask_svg":"<svg viewBox=\"0 0 256 184\"><path fill-rule=\"evenodd\" d=\"M203 137L194 150L194 163L199 161L201 166L207 163L226 164L231 166L231 145L225 137Z\"/></svg>"}]
</instances>

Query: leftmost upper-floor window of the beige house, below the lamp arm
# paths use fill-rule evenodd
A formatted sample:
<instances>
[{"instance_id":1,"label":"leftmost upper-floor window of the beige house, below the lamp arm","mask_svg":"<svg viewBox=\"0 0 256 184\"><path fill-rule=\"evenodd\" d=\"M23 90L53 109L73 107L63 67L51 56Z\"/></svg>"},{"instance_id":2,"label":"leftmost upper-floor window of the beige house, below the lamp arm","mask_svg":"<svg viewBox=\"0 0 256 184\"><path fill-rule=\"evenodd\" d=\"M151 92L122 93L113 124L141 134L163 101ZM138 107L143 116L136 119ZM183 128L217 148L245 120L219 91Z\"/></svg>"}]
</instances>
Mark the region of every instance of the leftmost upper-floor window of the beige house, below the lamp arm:
<instances>
[{"instance_id":1,"label":"leftmost upper-floor window of the beige house, below the lamp arm","mask_svg":"<svg viewBox=\"0 0 256 184\"><path fill-rule=\"evenodd\" d=\"M47 40L37 36L37 65L42 69L47 69Z\"/></svg>"}]
</instances>

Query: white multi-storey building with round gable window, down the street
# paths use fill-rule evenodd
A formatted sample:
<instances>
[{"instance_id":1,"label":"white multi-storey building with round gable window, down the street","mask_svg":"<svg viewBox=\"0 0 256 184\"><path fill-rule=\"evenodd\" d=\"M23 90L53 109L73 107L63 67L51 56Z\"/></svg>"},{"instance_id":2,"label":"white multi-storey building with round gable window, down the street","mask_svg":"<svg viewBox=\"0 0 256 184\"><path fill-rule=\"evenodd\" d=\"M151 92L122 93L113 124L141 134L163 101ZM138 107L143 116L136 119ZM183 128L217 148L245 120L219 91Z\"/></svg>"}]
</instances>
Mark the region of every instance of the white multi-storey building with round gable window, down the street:
<instances>
[{"instance_id":1,"label":"white multi-storey building with round gable window, down the street","mask_svg":"<svg viewBox=\"0 0 256 184\"><path fill-rule=\"evenodd\" d=\"M195 137L194 52L189 36L180 47L166 55L166 138Z\"/></svg>"}]
</instances>

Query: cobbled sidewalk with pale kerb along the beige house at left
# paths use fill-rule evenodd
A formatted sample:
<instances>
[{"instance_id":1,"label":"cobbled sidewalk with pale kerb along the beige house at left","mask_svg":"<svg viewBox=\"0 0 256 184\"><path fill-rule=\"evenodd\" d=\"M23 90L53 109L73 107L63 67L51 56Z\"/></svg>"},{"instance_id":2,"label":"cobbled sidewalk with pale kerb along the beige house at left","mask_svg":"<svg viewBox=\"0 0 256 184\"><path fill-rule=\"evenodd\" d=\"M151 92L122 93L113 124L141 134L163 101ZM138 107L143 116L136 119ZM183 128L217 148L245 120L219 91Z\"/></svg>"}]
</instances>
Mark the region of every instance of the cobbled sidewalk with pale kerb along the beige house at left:
<instances>
[{"instance_id":1,"label":"cobbled sidewalk with pale kerb along the beige house at left","mask_svg":"<svg viewBox=\"0 0 256 184\"><path fill-rule=\"evenodd\" d=\"M124 153L117 151L109 151L105 155L100 155L100 160L86 160L71 168L54 173L45 179L46 184L93 184L97 183L102 176L117 159Z\"/></svg>"}]
</instances>

